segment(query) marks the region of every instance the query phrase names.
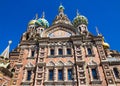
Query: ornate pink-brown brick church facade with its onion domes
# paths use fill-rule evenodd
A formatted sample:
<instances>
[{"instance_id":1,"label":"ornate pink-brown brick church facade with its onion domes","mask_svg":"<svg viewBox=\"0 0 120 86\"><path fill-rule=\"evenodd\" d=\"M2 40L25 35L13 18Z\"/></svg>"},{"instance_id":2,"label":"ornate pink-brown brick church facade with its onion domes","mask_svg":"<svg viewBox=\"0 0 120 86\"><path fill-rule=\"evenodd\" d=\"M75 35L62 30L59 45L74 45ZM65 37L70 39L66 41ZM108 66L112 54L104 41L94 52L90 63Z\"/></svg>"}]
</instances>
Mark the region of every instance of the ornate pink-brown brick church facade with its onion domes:
<instances>
[{"instance_id":1,"label":"ornate pink-brown brick church facade with its onion domes","mask_svg":"<svg viewBox=\"0 0 120 86\"><path fill-rule=\"evenodd\" d=\"M120 53L90 33L85 16L71 22L58 10L51 26L36 15L10 52L10 86L120 86Z\"/></svg>"}]
</instances>

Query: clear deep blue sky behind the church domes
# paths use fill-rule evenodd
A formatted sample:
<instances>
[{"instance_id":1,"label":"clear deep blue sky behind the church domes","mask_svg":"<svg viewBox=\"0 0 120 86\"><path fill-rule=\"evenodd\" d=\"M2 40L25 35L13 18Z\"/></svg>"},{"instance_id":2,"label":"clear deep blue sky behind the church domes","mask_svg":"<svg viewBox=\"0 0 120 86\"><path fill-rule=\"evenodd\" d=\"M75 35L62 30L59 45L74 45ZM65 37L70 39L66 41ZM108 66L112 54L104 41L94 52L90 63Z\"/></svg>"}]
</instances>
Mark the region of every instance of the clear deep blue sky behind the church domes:
<instances>
[{"instance_id":1,"label":"clear deep blue sky behind the church domes","mask_svg":"<svg viewBox=\"0 0 120 86\"><path fill-rule=\"evenodd\" d=\"M18 46L28 22L36 13L41 17L44 11L51 25L60 3L71 21L78 9L88 18L88 30L96 35L97 26L110 49L120 51L120 0L0 0L0 53L9 40L12 40L10 50Z\"/></svg>"}]
</instances>

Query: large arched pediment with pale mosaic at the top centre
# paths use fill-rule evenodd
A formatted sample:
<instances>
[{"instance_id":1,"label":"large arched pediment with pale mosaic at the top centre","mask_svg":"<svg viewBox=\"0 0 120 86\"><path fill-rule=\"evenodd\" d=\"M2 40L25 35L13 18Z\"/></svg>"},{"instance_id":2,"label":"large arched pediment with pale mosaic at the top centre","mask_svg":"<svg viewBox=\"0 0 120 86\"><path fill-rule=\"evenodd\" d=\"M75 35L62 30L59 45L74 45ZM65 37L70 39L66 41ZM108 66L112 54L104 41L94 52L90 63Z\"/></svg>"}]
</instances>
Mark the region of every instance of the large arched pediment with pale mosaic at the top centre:
<instances>
[{"instance_id":1,"label":"large arched pediment with pale mosaic at the top centre","mask_svg":"<svg viewBox=\"0 0 120 86\"><path fill-rule=\"evenodd\" d=\"M71 35L75 35L75 33L75 29L72 26L57 24L43 31L41 37L62 38L70 37Z\"/></svg>"}]
</instances>

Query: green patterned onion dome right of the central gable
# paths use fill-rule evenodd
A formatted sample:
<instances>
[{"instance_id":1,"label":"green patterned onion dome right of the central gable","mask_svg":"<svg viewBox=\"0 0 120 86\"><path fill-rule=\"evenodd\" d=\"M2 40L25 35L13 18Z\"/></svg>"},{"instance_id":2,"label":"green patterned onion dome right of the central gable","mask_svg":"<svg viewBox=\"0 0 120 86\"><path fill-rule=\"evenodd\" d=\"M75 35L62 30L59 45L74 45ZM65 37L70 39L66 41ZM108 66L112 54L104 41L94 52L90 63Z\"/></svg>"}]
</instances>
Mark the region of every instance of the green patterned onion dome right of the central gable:
<instances>
[{"instance_id":1,"label":"green patterned onion dome right of the central gable","mask_svg":"<svg viewBox=\"0 0 120 86\"><path fill-rule=\"evenodd\" d=\"M77 27L80 24L88 25L88 19L85 16L80 15L79 13L77 13L77 16L73 20L73 25L75 27Z\"/></svg>"}]
</instances>

